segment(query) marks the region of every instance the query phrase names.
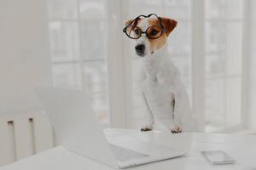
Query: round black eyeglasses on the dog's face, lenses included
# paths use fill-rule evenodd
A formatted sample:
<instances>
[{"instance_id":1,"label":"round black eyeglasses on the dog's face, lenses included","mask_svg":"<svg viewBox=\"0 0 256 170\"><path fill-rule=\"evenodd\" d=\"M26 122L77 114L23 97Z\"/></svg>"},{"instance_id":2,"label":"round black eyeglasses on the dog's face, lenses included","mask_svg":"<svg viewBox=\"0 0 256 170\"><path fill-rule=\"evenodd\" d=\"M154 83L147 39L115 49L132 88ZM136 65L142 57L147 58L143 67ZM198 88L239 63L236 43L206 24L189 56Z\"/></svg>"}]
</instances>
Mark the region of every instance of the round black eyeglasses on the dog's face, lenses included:
<instances>
[{"instance_id":1,"label":"round black eyeglasses on the dog's face, lenses included","mask_svg":"<svg viewBox=\"0 0 256 170\"><path fill-rule=\"evenodd\" d=\"M152 15L156 16L156 18L160 23L160 26L149 26L146 31L142 31L139 27L135 26L137 23L137 20L140 19L141 17L149 18ZM157 39L165 32L165 28L162 25L162 20L160 19L159 16L157 16L156 14L148 14L148 16L146 15L137 16L136 19L132 20L130 24L125 26L125 28L123 29L123 32L126 34L126 36L130 37L131 39L138 39L139 37L142 37L142 34L146 34L146 36L149 39Z\"/></svg>"}]
</instances>

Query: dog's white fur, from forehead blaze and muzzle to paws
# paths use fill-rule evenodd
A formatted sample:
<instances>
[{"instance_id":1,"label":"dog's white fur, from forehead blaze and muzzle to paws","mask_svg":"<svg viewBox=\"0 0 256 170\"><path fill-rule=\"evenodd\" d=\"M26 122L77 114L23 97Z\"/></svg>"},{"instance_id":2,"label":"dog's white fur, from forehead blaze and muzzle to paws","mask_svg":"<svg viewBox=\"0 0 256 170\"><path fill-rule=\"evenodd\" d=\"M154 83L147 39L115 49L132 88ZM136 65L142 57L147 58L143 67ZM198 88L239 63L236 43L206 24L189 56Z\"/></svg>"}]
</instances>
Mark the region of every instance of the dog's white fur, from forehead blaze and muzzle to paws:
<instances>
[{"instance_id":1,"label":"dog's white fur, from forehead blaze and muzzle to paws","mask_svg":"<svg viewBox=\"0 0 256 170\"><path fill-rule=\"evenodd\" d=\"M145 30L148 19L140 21L138 26ZM167 45L152 54L150 42L145 35L137 39L136 45L141 43L146 46L146 55L142 57L143 65L138 82L148 108L147 120L142 128L152 129L156 118L170 130L177 131L179 127L183 132L196 131L188 94L180 80L177 67L167 53Z\"/></svg>"}]
</instances>

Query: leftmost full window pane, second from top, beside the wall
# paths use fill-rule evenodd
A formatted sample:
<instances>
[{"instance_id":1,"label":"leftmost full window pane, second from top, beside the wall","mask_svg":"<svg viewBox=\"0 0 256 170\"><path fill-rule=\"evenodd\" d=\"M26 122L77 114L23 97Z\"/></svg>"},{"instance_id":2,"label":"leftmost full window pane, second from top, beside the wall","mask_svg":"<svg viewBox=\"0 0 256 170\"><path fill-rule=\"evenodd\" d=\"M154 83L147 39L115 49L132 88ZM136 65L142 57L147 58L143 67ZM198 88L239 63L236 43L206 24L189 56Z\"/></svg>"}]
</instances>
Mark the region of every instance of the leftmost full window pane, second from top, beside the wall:
<instances>
[{"instance_id":1,"label":"leftmost full window pane, second from top, beside the wall","mask_svg":"<svg viewBox=\"0 0 256 170\"><path fill-rule=\"evenodd\" d=\"M76 22L49 22L49 34L53 61L79 59L79 32Z\"/></svg>"}]
</instances>

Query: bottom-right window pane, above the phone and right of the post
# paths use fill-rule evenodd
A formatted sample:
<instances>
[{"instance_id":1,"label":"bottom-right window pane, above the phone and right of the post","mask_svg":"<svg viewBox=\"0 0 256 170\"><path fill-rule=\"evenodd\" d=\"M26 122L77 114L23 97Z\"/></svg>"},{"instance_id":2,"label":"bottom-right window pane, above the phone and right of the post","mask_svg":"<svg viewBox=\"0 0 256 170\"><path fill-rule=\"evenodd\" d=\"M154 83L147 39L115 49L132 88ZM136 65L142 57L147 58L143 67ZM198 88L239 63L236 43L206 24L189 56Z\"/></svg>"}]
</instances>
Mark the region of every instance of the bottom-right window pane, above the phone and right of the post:
<instances>
[{"instance_id":1,"label":"bottom-right window pane, above the phone and right of the post","mask_svg":"<svg viewBox=\"0 0 256 170\"><path fill-rule=\"evenodd\" d=\"M241 123L241 77L208 79L206 83L207 131Z\"/></svg>"}]
</instances>

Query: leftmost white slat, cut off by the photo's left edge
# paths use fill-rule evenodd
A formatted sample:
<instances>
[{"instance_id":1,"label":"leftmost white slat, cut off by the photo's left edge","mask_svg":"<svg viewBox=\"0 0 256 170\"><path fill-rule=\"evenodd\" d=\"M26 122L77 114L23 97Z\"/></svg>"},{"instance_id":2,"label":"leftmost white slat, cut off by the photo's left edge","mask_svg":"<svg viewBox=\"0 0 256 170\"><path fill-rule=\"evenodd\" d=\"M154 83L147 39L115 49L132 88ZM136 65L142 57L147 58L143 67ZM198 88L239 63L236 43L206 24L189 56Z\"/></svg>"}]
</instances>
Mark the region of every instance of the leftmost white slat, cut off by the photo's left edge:
<instances>
[{"instance_id":1,"label":"leftmost white slat, cut off by the photo's left edge","mask_svg":"<svg viewBox=\"0 0 256 170\"><path fill-rule=\"evenodd\" d=\"M15 161L13 124L0 119L0 166Z\"/></svg>"}]
</instances>

